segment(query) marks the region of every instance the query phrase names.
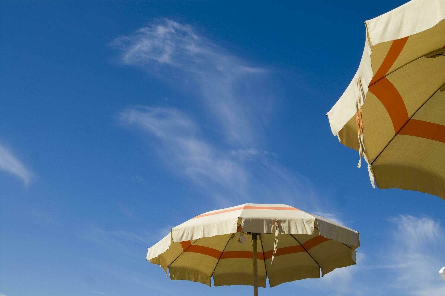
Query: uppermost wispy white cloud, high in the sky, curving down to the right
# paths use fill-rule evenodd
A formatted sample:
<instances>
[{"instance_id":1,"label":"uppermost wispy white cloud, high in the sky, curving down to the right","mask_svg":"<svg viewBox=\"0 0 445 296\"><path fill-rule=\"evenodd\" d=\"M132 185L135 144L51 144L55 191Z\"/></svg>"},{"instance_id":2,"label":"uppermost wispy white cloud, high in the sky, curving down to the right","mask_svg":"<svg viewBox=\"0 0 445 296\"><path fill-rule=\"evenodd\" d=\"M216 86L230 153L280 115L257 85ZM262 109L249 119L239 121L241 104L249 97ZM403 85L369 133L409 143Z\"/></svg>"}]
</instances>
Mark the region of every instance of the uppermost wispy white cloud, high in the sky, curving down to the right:
<instances>
[{"instance_id":1,"label":"uppermost wispy white cloud, high in the sky, curving down to the right","mask_svg":"<svg viewBox=\"0 0 445 296\"><path fill-rule=\"evenodd\" d=\"M112 44L121 50L122 63L174 81L174 87L192 94L231 141L249 144L258 137L273 101L267 69L249 65L190 25L166 19Z\"/></svg>"}]
</instances>

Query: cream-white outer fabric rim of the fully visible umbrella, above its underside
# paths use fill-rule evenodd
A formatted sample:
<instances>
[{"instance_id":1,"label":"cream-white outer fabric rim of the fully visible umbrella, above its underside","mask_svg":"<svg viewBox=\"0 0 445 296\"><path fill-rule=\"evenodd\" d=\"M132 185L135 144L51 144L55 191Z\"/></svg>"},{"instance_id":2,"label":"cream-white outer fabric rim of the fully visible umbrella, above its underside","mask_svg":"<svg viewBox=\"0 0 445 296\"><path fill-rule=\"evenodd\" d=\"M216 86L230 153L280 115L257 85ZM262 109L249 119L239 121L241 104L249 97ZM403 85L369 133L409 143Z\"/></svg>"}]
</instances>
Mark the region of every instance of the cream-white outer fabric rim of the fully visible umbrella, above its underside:
<instances>
[{"instance_id":1,"label":"cream-white outer fabric rim of the fully visible umbrella, above its underside","mask_svg":"<svg viewBox=\"0 0 445 296\"><path fill-rule=\"evenodd\" d=\"M290 207L283 204L246 203L244 205L227 209L243 206ZM224 211L227 209L217 211ZM167 251L172 242L178 243L214 235L235 233L237 232L238 218L241 219L243 232L272 233L275 230L275 221L278 221L279 233L286 234L313 234L315 220L317 219L320 235L341 243L357 247L359 246L359 233L357 231L317 215L312 215L304 211L255 209L246 211L240 209L218 213L217 215L208 215L190 219L173 227L168 235L147 250L146 260L149 261Z\"/></svg>"}]
</instances>

